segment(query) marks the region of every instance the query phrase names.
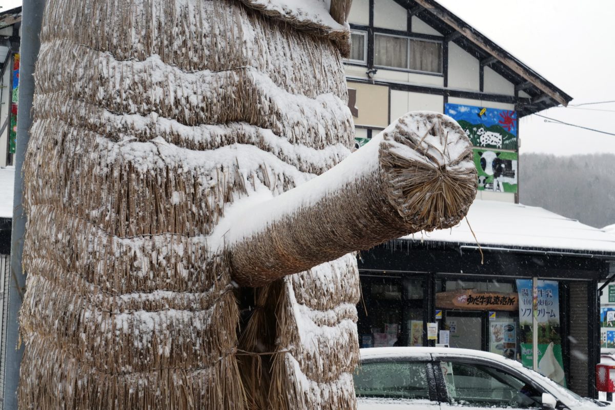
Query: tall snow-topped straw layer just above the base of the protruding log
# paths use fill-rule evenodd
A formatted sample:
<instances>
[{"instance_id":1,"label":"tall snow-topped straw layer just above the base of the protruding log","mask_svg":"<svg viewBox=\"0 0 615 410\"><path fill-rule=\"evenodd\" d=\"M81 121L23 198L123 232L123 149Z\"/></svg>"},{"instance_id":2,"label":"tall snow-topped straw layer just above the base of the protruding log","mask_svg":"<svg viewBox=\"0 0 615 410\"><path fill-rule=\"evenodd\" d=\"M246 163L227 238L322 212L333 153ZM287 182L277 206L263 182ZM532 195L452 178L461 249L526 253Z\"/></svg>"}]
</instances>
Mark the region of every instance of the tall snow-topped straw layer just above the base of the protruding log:
<instances>
[{"instance_id":1,"label":"tall snow-topped straw layer just above the base of the protruding log","mask_svg":"<svg viewBox=\"0 0 615 410\"><path fill-rule=\"evenodd\" d=\"M194 152L156 141L113 143L60 121L36 121L31 133L41 142L26 154L28 207L71 209L119 237L208 234L224 204L247 194L254 179L277 192L308 179L249 145L243 149L252 156L239 162L236 146Z\"/></svg>"}]
</instances>

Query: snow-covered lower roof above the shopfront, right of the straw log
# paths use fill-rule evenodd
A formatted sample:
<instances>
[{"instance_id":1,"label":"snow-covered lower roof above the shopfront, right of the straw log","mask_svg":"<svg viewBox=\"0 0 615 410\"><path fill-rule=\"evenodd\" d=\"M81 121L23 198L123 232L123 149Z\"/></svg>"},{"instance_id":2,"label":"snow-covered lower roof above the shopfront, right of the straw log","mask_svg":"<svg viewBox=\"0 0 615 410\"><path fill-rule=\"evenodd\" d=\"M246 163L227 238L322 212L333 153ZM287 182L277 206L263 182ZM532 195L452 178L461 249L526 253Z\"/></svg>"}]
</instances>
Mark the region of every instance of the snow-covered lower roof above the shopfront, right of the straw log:
<instances>
[{"instance_id":1,"label":"snow-covered lower roof above the shopfront, right of the straw log","mask_svg":"<svg viewBox=\"0 0 615 410\"><path fill-rule=\"evenodd\" d=\"M483 248L530 248L615 256L615 235L539 207L475 200L467 221L452 229L414 234L405 239L467 245L476 245L478 241Z\"/></svg>"}]
</instances>

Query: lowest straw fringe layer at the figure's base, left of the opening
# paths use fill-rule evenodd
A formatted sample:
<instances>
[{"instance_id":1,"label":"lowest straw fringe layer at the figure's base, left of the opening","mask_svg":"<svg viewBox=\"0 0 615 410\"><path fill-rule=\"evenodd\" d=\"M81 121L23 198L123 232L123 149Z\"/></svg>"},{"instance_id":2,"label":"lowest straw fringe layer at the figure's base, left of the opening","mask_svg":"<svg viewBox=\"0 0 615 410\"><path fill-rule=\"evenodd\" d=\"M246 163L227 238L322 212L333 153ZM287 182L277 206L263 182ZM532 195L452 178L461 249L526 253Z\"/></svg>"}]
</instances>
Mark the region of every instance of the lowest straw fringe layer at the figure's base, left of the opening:
<instances>
[{"instance_id":1,"label":"lowest straw fringe layer at the figure's base, left of the opening","mask_svg":"<svg viewBox=\"0 0 615 410\"><path fill-rule=\"evenodd\" d=\"M79 362L39 337L26 344L20 372L22 410L245 409L234 355L200 369L111 374Z\"/></svg>"}]
</instances>

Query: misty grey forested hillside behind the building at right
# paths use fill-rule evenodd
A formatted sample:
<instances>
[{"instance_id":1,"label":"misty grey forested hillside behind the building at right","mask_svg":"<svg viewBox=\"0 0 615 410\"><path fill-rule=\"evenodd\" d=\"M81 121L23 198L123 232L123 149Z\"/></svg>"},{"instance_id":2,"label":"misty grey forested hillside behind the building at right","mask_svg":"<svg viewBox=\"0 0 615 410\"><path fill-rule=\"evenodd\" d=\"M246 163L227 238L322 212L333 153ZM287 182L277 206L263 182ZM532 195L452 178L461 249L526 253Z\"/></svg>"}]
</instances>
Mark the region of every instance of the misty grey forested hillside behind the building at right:
<instances>
[{"instance_id":1,"label":"misty grey forested hillside behind the building at right","mask_svg":"<svg viewBox=\"0 0 615 410\"><path fill-rule=\"evenodd\" d=\"M519 200L584 224L615 223L615 155L523 154Z\"/></svg>"}]
</instances>

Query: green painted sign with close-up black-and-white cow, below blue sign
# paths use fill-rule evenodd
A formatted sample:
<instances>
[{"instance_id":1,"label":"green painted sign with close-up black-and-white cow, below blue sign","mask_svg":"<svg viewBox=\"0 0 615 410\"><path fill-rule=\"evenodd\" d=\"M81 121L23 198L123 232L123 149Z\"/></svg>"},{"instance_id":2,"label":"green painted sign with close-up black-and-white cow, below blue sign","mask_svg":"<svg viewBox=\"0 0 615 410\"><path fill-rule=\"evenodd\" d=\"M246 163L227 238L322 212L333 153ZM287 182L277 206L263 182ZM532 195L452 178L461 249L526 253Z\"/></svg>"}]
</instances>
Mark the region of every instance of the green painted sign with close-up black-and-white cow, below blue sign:
<instances>
[{"instance_id":1,"label":"green painted sign with close-up black-and-white cow, below blue sign","mask_svg":"<svg viewBox=\"0 0 615 410\"><path fill-rule=\"evenodd\" d=\"M474 149L478 191L517 192L517 152Z\"/></svg>"}]
</instances>

